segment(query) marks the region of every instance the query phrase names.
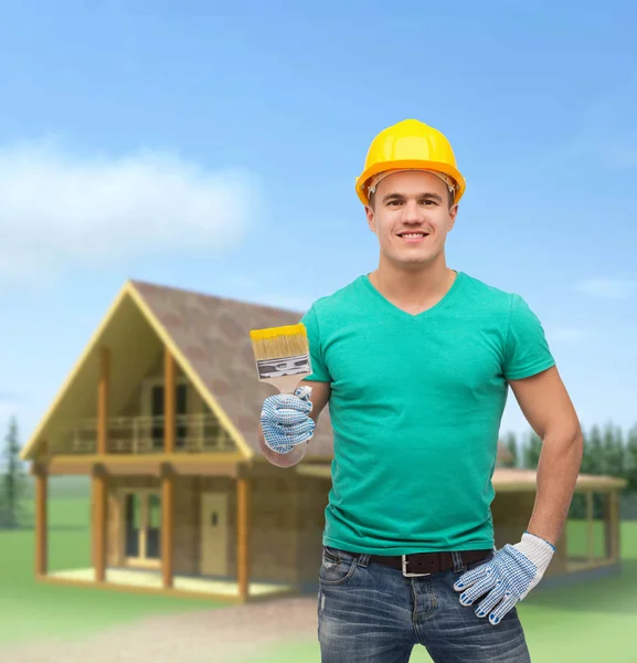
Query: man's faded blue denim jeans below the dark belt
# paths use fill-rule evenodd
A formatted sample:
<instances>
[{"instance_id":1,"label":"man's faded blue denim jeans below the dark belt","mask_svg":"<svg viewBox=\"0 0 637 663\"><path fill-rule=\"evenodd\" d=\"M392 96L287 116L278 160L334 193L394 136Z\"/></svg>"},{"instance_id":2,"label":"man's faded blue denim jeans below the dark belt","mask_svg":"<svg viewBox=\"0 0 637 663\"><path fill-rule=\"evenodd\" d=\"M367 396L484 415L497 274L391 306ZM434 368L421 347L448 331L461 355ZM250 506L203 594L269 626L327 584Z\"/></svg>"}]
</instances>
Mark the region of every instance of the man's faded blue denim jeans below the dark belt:
<instances>
[{"instance_id":1,"label":"man's faded blue denim jeans below the dark belt","mask_svg":"<svg viewBox=\"0 0 637 663\"><path fill-rule=\"evenodd\" d=\"M491 625L461 606L454 582L492 557L407 578L369 555L323 547L318 639L322 663L406 663L424 645L435 663L530 663L516 608Z\"/></svg>"}]
</instances>

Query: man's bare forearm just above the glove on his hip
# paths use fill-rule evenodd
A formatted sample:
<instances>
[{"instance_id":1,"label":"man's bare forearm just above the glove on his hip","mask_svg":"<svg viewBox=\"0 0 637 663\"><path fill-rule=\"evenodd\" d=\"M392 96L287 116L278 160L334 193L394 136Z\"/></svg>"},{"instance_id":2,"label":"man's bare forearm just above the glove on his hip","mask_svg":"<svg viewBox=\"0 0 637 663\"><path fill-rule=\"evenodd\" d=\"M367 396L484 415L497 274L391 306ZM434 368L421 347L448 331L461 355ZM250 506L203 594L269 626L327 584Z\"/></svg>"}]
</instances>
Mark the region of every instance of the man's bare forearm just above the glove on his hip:
<instances>
[{"instance_id":1,"label":"man's bare forearm just above the glove on his hip","mask_svg":"<svg viewBox=\"0 0 637 663\"><path fill-rule=\"evenodd\" d=\"M548 433L538 464L538 492L527 528L555 546L569 516L583 455L582 432Z\"/></svg>"}]
</instances>

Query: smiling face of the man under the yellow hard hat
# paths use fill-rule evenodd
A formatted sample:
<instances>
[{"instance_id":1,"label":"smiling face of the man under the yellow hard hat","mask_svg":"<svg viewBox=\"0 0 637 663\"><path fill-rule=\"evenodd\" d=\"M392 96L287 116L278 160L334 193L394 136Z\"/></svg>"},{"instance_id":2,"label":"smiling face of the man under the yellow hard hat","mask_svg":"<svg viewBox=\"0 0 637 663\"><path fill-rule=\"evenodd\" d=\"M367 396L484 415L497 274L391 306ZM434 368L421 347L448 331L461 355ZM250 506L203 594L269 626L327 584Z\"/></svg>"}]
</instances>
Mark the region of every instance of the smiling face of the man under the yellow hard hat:
<instances>
[{"instance_id":1,"label":"smiling face of the man under the yellow hard hat","mask_svg":"<svg viewBox=\"0 0 637 663\"><path fill-rule=\"evenodd\" d=\"M447 185L424 171L393 172L376 187L374 209L365 207L370 230L379 239L381 257L397 266L418 269L444 252L457 206Z\"/></svg>"}]
</instances>

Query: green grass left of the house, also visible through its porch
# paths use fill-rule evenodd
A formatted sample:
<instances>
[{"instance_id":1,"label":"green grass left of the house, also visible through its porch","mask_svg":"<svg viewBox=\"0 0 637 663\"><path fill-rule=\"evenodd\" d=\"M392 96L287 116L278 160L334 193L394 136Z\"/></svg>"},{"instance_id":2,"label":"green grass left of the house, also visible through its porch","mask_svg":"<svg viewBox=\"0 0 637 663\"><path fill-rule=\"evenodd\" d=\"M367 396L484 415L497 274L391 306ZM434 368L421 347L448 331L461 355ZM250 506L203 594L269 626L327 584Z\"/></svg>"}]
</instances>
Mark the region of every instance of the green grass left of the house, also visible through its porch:
<instances>
[{"instance_id":1,"label":"green grass left of the house, also visible through its porch","mask_svg":"<svg viewBox=\"0 0 637 663\"><path fill-rule=\"evenodd\" d=\"M83 496L50 501L51 570L91 566L88 504ZM149 614L223 604L38 582L33 572L34 549L31 529L0 532L0 645L47 636L68 640Z\"/></svg>"}]
</instances>

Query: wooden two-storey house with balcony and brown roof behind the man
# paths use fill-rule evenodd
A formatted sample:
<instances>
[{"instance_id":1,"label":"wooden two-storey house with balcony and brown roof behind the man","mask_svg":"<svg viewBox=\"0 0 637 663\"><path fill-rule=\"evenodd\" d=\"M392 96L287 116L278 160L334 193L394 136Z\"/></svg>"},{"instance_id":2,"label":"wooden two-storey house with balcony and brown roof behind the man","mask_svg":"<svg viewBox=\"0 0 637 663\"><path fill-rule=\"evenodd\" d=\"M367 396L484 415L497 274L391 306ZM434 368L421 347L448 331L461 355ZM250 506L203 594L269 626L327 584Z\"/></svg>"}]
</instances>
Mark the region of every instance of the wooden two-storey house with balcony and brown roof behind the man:
<instances>
[{"instance_id":1,"label":"wooden two-storey house with balcony and brown roof behind the man","mask_svg":"<svg viewBox=\"0 0 637 663\"><path fill-rule=\"evenodd\" d=\"M300 314L138 281L127 282L24 446L35 476L35 573L130 591L247 601L315 591L330 488L326 410L304 461L268 463L256 429L274 391L256 379L248 330ZM47 481L92 485L92 566L47 568ZM534 499L533 472L498 467L498 547L518 541ZM567 537L543 585L618 568L623 482L581 476L604 493L602 552L592 511L588 548ZM592 504L590 501L588 504Z\"/></svg>"}]
</instances>

